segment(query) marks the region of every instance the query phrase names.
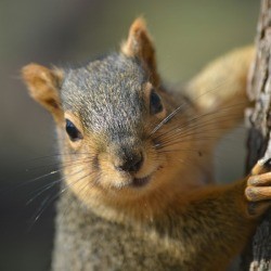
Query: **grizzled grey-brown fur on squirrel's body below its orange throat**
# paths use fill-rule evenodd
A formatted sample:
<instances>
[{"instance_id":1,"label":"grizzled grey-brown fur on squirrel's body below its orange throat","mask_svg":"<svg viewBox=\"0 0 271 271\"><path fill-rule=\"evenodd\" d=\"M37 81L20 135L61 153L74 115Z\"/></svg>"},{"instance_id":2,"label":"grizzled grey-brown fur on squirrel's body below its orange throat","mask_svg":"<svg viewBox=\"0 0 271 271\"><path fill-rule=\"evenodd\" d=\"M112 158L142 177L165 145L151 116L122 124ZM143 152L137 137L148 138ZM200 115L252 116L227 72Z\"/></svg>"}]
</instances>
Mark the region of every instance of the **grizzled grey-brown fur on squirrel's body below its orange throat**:
<instances>
[{"instance_id":1,"label":"grizzled grey-brown fur on squirrel's body below its orange throat","mask_svg":"<svg viewBox=\"0 0 271 271\"><path fill-rule=\"evenodd\" d=\"M180 245L169 249L143 229L100 218L69 192L62 195L57 214L54 271L190 270Z\"/></svg>"}]
</instances>

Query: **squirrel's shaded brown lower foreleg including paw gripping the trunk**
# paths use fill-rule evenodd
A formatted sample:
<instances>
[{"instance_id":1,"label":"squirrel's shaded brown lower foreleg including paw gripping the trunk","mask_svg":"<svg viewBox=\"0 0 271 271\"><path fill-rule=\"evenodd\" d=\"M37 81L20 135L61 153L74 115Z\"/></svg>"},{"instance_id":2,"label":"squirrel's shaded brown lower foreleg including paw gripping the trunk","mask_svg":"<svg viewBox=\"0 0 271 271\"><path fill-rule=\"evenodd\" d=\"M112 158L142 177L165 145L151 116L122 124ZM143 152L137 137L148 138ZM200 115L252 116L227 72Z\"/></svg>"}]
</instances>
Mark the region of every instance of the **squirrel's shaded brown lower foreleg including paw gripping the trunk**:
<instances>
[{"instance_id":1,"label":"squirrel's shaded brown lower foreleg including paw gripping the trunk","mask_svg":"<svg viewBox=\"0 0 271 271\"><path fill-rule=\"evenodd\" d=\"M269 160L259 162L253 175L238 182L206 186L191 193L185 202L177 199L178 219L171 237L181 235L184 256L194 270L203 262L201 270L223 270L244 248L271 205L268 170Z\"/></svg>"}]
</instances>

